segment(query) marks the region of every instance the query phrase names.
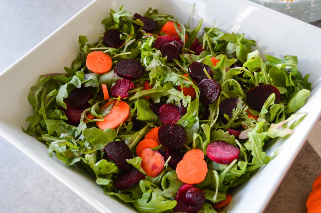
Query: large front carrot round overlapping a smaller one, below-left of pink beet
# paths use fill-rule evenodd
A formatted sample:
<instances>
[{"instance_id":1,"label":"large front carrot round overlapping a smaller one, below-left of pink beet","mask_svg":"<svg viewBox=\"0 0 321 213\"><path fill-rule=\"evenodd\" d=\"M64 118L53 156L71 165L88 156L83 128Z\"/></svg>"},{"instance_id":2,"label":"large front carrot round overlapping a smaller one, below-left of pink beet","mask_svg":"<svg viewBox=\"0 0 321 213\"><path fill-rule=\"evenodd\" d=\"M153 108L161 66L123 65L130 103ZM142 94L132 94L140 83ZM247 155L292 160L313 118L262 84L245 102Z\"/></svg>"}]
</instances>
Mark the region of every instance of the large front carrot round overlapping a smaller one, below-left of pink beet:
<instances>
[{"instance_id":1,"label":"large front carrot round overlapping a smaller one, below-left of pink beet","mask_svg":"<svg viewBox=\"0 0 321 213\"><path fill-rule=\"evenodd\" d=\"M176 174L178 179L185 184L201 183L207 173L207 164L204 160L185 158L177 164Z\"/></svg>"}]
</instances>

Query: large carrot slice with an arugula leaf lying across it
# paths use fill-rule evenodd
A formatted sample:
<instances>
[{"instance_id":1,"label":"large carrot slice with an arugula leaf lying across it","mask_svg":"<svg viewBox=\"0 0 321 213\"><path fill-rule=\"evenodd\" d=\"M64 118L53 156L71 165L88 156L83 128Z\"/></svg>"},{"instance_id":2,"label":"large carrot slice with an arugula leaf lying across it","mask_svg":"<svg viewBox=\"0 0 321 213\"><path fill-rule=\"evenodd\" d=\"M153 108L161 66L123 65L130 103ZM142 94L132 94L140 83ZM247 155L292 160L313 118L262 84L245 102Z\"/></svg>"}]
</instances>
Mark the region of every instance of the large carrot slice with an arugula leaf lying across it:
<instances>
[{"instance_id":1,"label":"large carrot slice with an arugula leaf lying across it","mask_svg":"<svg viewBox=\"0 0 321 213\"><path fill-rule=\"evenodd\" d=\"M96 121L96 125L102 130L107 128L115 129L129 116L129 105L127 102L119 101L117 103L117 100L112 100L103 107L107 107L111 103L114 103L114 105L110 113L103 117L103 121Z\"/></svg>"}]
</instances>

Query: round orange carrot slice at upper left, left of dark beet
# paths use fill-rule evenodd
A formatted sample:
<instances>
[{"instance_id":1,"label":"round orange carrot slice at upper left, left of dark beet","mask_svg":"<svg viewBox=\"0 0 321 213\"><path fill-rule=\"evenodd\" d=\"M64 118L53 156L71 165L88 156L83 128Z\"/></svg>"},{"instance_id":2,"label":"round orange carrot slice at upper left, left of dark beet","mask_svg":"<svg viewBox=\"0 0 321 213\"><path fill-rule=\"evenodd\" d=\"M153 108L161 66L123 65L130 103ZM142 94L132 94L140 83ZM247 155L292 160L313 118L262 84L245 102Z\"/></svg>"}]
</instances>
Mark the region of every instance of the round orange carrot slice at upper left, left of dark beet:
<instances>
[{"instance_id":1,"label":"round orange carrot slice at upper left, left of dark beet","mask_svg":"<svg viewBox=\"0 0 321 213\"><path fill-rule=\"evenodd\" d=\"M109 55L101 51L94 51L87 55L86 66L97 74L103 74L111 70L113 62Z\"/></svg>"}]
</instances>

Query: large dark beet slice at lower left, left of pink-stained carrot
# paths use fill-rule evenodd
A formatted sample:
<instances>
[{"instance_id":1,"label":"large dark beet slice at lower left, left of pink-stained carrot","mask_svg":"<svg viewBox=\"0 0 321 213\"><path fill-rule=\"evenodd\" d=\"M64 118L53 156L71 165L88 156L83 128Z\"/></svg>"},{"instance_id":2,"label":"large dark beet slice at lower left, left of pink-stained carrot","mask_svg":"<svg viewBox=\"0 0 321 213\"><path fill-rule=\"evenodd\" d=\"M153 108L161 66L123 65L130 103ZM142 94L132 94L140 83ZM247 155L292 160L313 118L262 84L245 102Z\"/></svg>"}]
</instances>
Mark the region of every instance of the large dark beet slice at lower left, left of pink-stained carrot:
<instances>
[{"instance_id":1,"label":"large dark beet slice at lower left, left of pink-stained carrot","mask_svg":"<svg viewBox=\"0 0 321 213\"><path fill-rule=\"evenodd\" d=\"M133 158L133 153L125 142L112 141L107 143L103 151L120 169L130 171L134 168L133 165L127 163L126 161L126 159Z\"/></svg>"}]
</instances>

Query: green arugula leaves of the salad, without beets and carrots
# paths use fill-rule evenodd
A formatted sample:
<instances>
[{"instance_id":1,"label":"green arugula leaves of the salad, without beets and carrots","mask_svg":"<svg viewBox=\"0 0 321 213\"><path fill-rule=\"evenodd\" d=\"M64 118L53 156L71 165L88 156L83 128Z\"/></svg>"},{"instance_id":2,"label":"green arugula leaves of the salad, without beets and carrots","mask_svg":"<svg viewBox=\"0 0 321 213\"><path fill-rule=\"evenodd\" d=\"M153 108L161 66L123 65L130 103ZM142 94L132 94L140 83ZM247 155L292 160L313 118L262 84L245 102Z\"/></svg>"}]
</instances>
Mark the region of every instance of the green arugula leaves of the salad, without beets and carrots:
<instances>
[{"instance_id":1,"label":"green arugula leaves of the salad, without beets and carrots","mask_svg":"<svg viewBox=\"0 0 321 213\"><path fill-rule=\"evenodd\" d=\"M86 36L79 36L80 52L71 67L65 67L65 73L40 76L38 83L31 87L28 100L34 115L27 118L30 124L22 129L46 143L50 156L56 153L56 157L65 165L76 165L96 178L96 183L103 186L103 193L132 203L138 212L172 212L177 205L175 197L178 189L184 184L175 169L165 162L156 177L145 175L143 180L129 189L117 190L113 180L121 173L121 169L104 156L103 149L112 141L125 142L133 153L133 158L127 159L127 162L144 174L142 158L135 152L136 146L150 129L163 125L152 110L151 103L171 103L180 108L184 106L186 114L176 124L184 128L186 141L178 150L182 153L191 149L204 152L208 171L204 181L195 186L205 192L201 211L217 212L213 203L226 199L226 194L235 186L246 182L256 169L273 159L274 156L267 156L266 146L274 138L292 133L287 122L295 118L293 113L304 105L310 94L309 75L301 75L296 56L287 55L278 59L265 54L263 60L257 50L252 51L255 41L247 39L244 34L225 33L214 25L202 31L202 20L195 28L191 28L189 23L178 23L172 15L159 14L151 8L144 17L157 24L150 33L143 30L143 21L133 18L123 6L116 11L110 10L109 17L102 20L102 24L106 30L117 29L122 33L120 38L124 43L118 48L108 47L103 42L103 35L97 36L97 42L93 44L88 43ZM164 34L160 32L162 26L169 21L175 23L176 32L183 42L182 54L173 61L154 48L155 40ZM195 39L202 43L199 55L190 50ZM111 57L111 71L97 74L87 69L87 55L94 51L103 51ZM216 64L212 63L212 57L218 61ZM143 77L132 80L134 89L128 91L128 97L121 99L130 106L126 121L114 129L102 130L97 127L96 121L102 121L111 108L101 110L108 102L101 85L106 85L109 91L116 84L120 77L115 74L114 68L125 59L137 60L145 71ZM200 102L198 87L191 78L183 76L194 61L208 65L213 79L221 85L219 98L211 104ZM142 85L146 80L150 82L150 87L143 90ZM271 94L261 111L249 107L246 92L258 85L275 86L280 91L280 101L274 103L275 94ZM68 120L65 100L75 88L82 86L91 87L94 92L88 102L90 106L75 124ZM184 95L179 86L192 86L196 97ZM219 116L219 104L230 97L239 101L232 110L232 116L225 114L222 118ZM119 101L120 96L111 97L110 100ZM205 119L204 111L209 111ZM142 124L139 129L136 128L137 122ZM230 135L227 129L235 129L241 134L238 137ZM206 148L212 141L224 141L240 148L239 159L229 165L210 160L206 156ZM162 145L153 150L160 147Z\"/></svg>"}]
</instances>

